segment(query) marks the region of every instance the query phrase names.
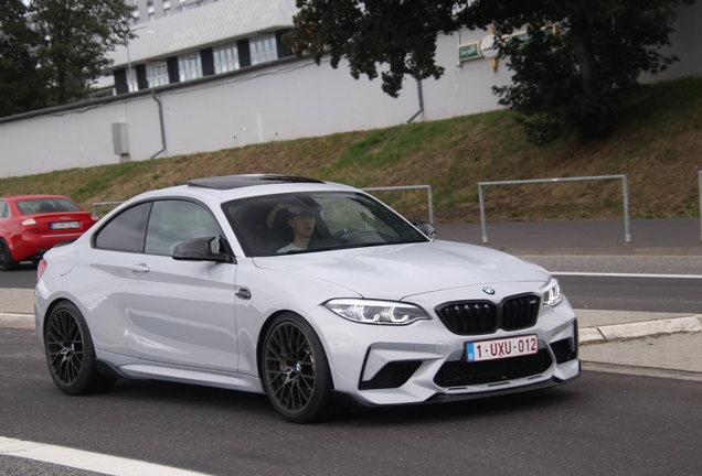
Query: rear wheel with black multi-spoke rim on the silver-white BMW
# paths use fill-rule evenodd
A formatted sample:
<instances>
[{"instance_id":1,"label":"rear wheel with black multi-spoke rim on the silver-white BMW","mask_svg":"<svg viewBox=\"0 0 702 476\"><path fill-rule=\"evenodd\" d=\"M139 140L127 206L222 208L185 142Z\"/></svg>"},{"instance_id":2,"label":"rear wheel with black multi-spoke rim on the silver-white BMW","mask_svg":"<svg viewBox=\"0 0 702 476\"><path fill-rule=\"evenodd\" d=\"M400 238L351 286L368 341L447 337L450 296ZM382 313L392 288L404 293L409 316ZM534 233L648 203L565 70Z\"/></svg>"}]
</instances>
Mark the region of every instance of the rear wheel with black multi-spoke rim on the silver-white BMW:
<instances>
[{"instance_id":1,"label":"rear wheel with black multi-spoke rim on the silver-white BMW","mask_svg":"<svg viewBox=\"0 0 702 476\"><path fill-rule=\"evenodd\" d=\"M46 363L59 389L70 396L107 390L115 378L97 372L93 339L83 314L64 301L49 315L44 329Z\"/></svg>"}]
</instances>

